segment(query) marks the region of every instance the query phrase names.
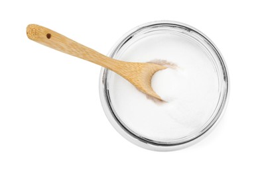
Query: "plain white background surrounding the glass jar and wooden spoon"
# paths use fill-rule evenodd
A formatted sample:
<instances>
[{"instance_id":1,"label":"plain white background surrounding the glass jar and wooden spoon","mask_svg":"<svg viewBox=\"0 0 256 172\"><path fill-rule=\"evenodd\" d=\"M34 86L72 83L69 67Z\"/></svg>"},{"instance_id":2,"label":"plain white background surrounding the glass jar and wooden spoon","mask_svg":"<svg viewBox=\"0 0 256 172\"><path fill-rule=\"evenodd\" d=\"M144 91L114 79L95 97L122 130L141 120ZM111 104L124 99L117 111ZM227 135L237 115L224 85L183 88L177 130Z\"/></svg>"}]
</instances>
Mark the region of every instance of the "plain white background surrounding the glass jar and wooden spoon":
<instances>
[{"instance_id":1,"label":"plain white background surrounding the glass jar and wooden spoon","mask_svg":"<svg viewBox=\"0 0 256 172\"><path fill-rule=\"evenodd\" d=\"M1 1L0 171L255 171L254 1ZM32 42L27 24L107 54L139 24L190 24L222 52L224 118L198 144L156 152L121 137L98 93L100 67Z\"/></svg>"}]
</instances>

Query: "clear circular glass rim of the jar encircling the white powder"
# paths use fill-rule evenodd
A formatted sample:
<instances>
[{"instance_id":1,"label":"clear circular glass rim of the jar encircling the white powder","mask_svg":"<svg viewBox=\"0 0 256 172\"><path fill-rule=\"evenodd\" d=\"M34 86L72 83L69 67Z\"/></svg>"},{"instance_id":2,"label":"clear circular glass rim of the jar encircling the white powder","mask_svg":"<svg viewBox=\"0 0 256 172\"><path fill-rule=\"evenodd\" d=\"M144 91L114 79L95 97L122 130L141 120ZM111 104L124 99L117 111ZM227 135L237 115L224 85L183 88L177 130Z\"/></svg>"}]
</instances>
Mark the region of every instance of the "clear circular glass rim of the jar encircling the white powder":
<instances>
[{"instance_id":1,"label":"clear circular glass rim of the jar encircling the white powder","mask_svg":"<svg viewBox=\"0 0 256 172\"><path fill-rule=\"evenodd\" d=\"M224 113L225 107L227 105L227 99L229 97L229 76L227 73L227 67L225 65L224 59L222 58L222 55L218 48L214 45L214 43L202 32L197 30L196 28L193 28L192 26L189 26L188 24L183 24L181 22L174 22L174 21L155 21L155 22L148 22L145 24L142 24L140 26L137 26L136 28L133 28L127 34L125 34L119 41L117 41L117 44L113 46L111 51L109 52L108 56L110 58L113 58L115 54L121 49L121 47L133 36L136 36L140 32L143 32L143 30L151 30L153 28L161 28L161 27L177 27L184 29L188 32L192 32L200 36L204 40L204 42L212 48L214 53L217 55L218 64L217 67L221 71L218 71L219 77L222 79L222 81L219 81L222 83L221 85L221 91L220 91L220 101L218 103L218 107L216 110L216 114L214 115L214 118L212 118L212 121L204 127L200 132L197 134L194 134L193 136L190 136L183 140L177 140L176 142L169 142L169 143L162 143L157 142L155 140L149 140L147 138L143 138L142 136L139 136L139 134L134 133L132 130L129 130L121 120L118 119L115 109L112 106L111 99L109 96L109 89L108 89L108 83L107 83L107 76L108 76L108 69L102 68L101 73L99 76L99 95L101 100L101 105L103 107L103 110L109 119L109 122L113 125L113 127L119 132L123 137L125 137L130 142L133 142L133 144L136 144L137 146L141 146L142 148L146 148L149 150L157 150L157 151L168 151L168 150L177 150L179 148L184 148L186 146L189 146L193 144L194 142L198 142L200 139L204 138L206 134L210 133L210 130L216 126L218 121L220 120L222 114ZM221 75L220 75L221 74Z\"/></svg>"}]
</instances>

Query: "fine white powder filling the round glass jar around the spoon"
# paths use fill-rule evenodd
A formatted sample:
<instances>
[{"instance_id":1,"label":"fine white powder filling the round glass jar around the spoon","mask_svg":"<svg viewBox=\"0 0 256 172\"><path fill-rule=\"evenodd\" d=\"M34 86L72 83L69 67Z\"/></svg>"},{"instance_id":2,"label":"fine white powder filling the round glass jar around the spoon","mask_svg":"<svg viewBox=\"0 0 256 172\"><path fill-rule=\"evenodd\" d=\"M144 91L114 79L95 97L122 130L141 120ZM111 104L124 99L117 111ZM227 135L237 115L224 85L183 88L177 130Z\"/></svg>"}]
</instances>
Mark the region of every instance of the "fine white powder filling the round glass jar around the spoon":
<instances>
[{"instance_id":1,"label":"fine white powder filling the round glass jar around the spoon","mask_svg":"<svg viewBox=\"0 0 256 172\"><path fill-rule=\"evenodd\" d=\"M208 124L219 93L218 75L204 48L190 38L161 33L141 38L117 56L127 62L161 59L177 65L153 75L153 89L167 101L160 105L111 73L111 102L117 117L129 130L157 142L171 142Z\"/></svg>"}]
</instances>

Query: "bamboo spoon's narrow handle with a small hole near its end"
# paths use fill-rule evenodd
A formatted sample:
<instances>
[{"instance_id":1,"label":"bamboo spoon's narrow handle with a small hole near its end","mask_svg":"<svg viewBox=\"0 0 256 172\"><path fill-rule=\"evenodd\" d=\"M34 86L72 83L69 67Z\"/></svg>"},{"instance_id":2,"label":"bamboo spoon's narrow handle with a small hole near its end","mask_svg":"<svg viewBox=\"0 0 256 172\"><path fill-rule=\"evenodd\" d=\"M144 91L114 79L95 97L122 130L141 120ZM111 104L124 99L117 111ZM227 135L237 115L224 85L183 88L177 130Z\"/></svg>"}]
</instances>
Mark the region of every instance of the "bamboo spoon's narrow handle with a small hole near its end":
<instances>
[{"instance_id":1,"label":"bamboo spoon's narrow handle with a small hole near its end","mask_svg":"<svg viewBox=\"0 0 256 172\"><path fill-rule=\"evenodd\" d=\"M96 52L96 50L92 50L62 34L37 24L29 24L29 26L27 26L27 36L31 40L43 44L44 46L88 60L94 64L111 69L112 71L116 71L116 66L122 63L119 60L108 58L107 56Z\"/></svg>"}]
</instances>

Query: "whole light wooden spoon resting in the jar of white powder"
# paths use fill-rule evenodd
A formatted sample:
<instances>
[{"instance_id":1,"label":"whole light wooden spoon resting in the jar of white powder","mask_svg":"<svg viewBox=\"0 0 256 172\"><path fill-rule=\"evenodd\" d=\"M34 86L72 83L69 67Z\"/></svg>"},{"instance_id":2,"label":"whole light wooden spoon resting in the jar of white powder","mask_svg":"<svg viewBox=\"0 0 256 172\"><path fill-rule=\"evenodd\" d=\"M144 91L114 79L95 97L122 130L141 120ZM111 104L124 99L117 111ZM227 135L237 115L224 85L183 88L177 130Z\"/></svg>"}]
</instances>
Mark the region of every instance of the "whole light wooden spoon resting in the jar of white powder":
<instances>
[{"instance_id":1,"label":"whole light wooden spoon resting in the jar of white powder","mask_svg":"<svg viewBox=\"0 0 256 172\"><path fill-rule=\"evenodd\" d=\"M43 44L44 46L48 46L60 52L88 60L94 64L110 69L127 79L127 81L137 87L139 91L162 101L159 95L157 95L151 87L151 78L156 71L166 69L163 65L123 62L121 60L108 58L62 34L58 34L53 30L37 24L29 24L29 26L27 26L27 36L31 40Z\"/></svg>"}]
</instances>

